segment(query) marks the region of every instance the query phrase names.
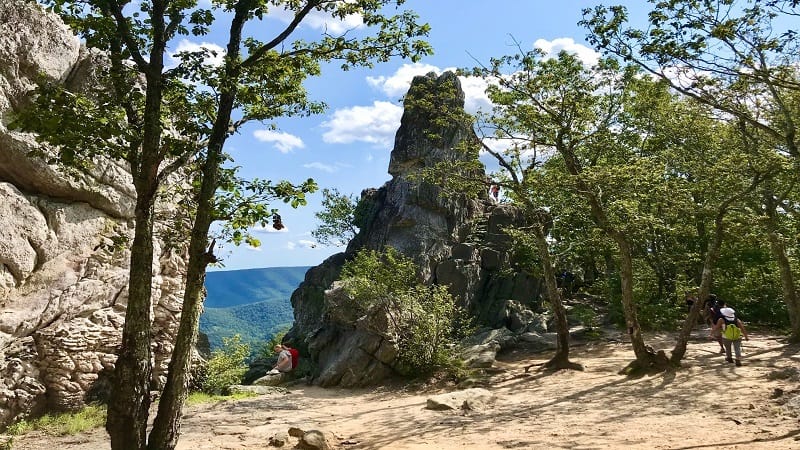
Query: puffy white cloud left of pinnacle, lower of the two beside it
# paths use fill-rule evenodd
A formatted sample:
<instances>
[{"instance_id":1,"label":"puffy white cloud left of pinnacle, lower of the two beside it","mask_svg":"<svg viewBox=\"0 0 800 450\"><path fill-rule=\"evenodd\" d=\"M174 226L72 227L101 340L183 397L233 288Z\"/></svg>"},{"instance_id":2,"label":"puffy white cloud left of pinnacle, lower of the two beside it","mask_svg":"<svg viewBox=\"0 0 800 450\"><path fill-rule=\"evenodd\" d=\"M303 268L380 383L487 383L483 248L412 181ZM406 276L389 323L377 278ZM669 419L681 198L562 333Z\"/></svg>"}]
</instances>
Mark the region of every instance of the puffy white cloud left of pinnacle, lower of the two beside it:
<instances>
[{"instance_id":1,"label":"puffy white cloud left of pinnacle, lower of the two beside it","mask_svg":"<svg viewBox=\"0 0 800 450\"><path fill-rule=\"evenodd\" d=\"M353 106L333 112L330 120L322 123L327 128L322 139L329 144L368 142L388 147L400 126L403 108L390 102L373 102L372 106Z\"/></svg>"}]
</instances>

